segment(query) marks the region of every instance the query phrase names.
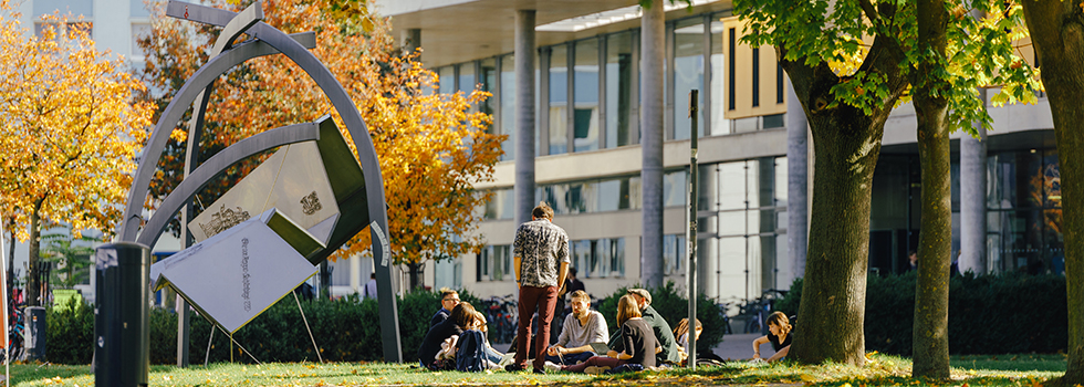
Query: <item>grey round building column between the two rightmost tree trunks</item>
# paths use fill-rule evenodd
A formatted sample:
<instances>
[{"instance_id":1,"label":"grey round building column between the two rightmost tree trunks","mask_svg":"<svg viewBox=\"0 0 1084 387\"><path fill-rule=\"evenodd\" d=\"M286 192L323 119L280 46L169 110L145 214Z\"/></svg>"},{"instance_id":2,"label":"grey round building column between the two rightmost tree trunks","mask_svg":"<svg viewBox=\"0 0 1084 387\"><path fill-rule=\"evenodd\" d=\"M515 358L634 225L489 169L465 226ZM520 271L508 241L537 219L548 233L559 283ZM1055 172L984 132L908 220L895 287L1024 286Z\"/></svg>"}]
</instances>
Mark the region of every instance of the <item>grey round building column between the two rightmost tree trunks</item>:
<instances>
[{"instance_id":1,"label":"grey round building column between the two rightmost tree trunks","mask_svg":"<svg viewBox=\"0 0 1084 387\"><path fill-rule=\"evenodd\" d=\"M982 101L986 90L979 90ZM984 274L987 268L987 130L972 124L979 138L960 137L960 272Z\"/></svg>"}]
</instances>

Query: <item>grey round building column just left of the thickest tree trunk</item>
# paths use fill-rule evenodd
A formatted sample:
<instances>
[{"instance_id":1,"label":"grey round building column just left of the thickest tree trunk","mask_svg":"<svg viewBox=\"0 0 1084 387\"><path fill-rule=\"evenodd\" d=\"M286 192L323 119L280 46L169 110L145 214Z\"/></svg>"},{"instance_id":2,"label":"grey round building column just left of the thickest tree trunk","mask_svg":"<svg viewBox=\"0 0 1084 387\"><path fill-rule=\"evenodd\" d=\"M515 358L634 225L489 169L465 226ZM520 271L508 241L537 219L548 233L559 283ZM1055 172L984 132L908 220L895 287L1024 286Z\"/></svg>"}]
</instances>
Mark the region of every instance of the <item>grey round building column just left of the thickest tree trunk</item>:
<instances>
[{"instance_id":1,"label":"grey round building column just left of the thickest tree trunk","mask_svg":"<svg viewBox=\"0 0 1084 387\"><path fill-rule=\"evenodd\" d=\"M786 82L786 249L794 278L805 275L805 249L809 247L809 124L805 111ZM781 279L790 285L791 279Z\"/></svg>"}]
</instances>

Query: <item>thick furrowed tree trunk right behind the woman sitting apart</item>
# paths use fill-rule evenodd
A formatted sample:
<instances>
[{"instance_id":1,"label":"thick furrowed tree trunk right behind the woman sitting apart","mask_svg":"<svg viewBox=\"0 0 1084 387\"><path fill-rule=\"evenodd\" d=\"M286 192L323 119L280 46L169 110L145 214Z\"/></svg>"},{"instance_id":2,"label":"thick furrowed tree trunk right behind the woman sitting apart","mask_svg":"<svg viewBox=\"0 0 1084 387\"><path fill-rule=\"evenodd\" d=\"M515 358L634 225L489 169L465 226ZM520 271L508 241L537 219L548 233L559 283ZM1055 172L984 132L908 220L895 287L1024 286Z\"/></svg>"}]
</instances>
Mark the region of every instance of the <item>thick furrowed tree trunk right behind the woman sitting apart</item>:
<instances>
[{"instance_id":1,"label":"thick furrowed tree trunk right behind the woman sitting apart","mask_svg":"<svg viewBox=\"0 0 1084 387\"><path fill-rule=\"evenodd\" d=\"M810 119L814 185L810 248L790 355L803 363L865 363L869 197L885 117L841 105Z\"/></svg>"}]
</instances>

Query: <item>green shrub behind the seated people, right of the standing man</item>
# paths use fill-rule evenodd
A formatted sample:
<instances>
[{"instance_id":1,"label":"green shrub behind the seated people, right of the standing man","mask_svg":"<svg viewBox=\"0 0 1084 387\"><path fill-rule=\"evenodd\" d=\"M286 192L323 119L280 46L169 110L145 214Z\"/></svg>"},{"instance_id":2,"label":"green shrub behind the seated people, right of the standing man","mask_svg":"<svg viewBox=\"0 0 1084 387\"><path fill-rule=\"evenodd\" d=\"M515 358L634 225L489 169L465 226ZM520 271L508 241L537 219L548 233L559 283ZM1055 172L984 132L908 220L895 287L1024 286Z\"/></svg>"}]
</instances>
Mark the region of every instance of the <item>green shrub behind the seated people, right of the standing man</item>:
<instances>
[{"instance_id":1,"label":"green shrub behind the seated people, right of the standing man","mask_svg":"<svg viewBox=\"0 0 1084 387\"><path fill-rule=\"evenodd\" d=\"M635 289L639 285L621 287L598 303L598 312L602 312L602 315L606 317L606 325L609 327L611 335L618 330L617 301L627 294L630 287ZM665 285L647 291L652 293L652 306L670 324L670 328L677 327L681 318L688 318L689 299L677 293L673 281L667 281ZM726 332L722 310L703 294L697 297L697 320L703 326L703 332L700 333L700 338L697 341L697 347L713 348L722 343L722 335Z\"/></svg>"}]
</instances>

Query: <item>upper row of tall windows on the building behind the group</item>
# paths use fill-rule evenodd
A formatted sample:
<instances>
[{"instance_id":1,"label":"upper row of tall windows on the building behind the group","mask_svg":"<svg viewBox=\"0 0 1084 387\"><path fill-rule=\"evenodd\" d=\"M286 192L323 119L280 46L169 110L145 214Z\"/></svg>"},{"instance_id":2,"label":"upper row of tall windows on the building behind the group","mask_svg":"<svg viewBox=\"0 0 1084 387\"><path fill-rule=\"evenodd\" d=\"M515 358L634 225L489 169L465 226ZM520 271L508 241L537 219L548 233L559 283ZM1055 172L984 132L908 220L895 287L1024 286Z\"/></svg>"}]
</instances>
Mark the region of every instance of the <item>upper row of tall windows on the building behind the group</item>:
<instances>
[{"instance_id":1,"label":"upper row of tall windows on the building behind the group","mask_svg":"<svg viewBox=\"0 0 1084 387\"><path fill-rule=\"evenodd\" d=\"M770 76L776 87L773 101L783 102L783 72L757 75L746 95L736 91L734 52L725 53L725 14L700 14L667 23L665 59L665 138L688 139L689 92L699 90L700 136L783 127L782 114L727 119L733 111L728 101L760 98L760 77ZM732 28L731 28L732 30ZM729 38L727 38L729 36ZM640 93L639 29L600 34L539 49L535 63L535 155L560 155L639 144ZM731 43L729 46L733 46ZM739 53L740 54L740 53ZM493 114L490 130L508 135L502 159L515 157L514 54L488 57L437 69L441 93L470 92L478 87L493 96L479 109ZM743 66L758 66L757 55L741 57ZM729 61L729 62L727 62ZM729 74L729 75L728 75ZM775 80L778 77L778 80ZM729 80L729 81L728 81ZM749 80L738 80L748 82ZM767 82L767 81L765 81ZM739 85L740 86L740 85ZM729 107L728 107L729 106Z\"/></svg>"}]
</instances>

